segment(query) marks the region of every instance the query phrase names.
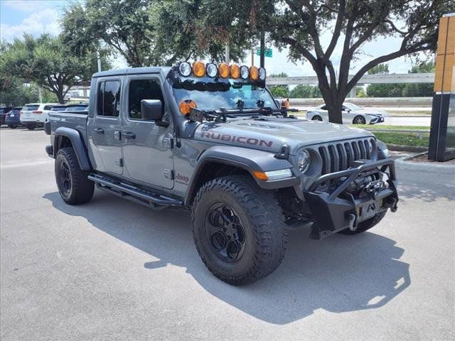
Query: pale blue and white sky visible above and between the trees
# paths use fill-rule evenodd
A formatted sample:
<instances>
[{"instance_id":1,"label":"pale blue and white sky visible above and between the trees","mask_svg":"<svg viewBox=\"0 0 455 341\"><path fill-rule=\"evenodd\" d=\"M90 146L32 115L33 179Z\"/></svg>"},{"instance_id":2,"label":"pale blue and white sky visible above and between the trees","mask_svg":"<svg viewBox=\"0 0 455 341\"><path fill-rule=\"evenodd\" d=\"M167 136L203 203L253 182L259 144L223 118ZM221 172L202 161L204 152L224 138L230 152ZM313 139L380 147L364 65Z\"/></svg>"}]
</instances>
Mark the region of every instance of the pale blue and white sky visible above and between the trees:
<instances>
[{"instance_id":1,"label":"pale blue and white sky visible above and between the trees","mask_svg":"<svg viewBox=\"0 0 455 341\"><path fill-rule=\"evenodd\" d=\"M41 33L50 33L58 35L60 33L59 18L63 15L65 6L68 1L61 0L0 0L0 38L12 41L14 38L21 38L23 32L30 33L33 36L39 36ZM331 32L327 31L321 36L321 43L328 45L331 38ZM332 63L339 65L341 59L341 40L332 55ZM368 60L383 55L385 53L397 50L400 46L399 38L380 38L363 45L363 53L358 55L350 73L358 70ZM286 72L289 76L310 76L315 75L311 65L304 61L291 63L287 58L287 50L279 52L277 48L272 47L273 57L265 58L265 68L267 73ZM251 60L250 53L245 58L245 64L249 65ZM255 64L259 64L259 56L255 56ZM411 58L398 58L392 60L389 64L390 73L407 73L412 66ZM127 67L123 58L113 60L115 68Z\"/></svg>"}]
</instances>

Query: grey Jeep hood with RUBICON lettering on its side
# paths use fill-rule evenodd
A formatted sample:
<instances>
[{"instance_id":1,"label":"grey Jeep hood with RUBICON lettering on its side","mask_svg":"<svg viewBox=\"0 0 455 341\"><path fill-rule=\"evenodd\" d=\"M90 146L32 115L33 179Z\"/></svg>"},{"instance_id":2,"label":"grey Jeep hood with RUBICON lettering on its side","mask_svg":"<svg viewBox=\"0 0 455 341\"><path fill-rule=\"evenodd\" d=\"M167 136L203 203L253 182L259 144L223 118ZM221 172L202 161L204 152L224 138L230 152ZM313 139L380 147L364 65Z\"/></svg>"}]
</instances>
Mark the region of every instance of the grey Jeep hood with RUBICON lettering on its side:
<instances>
[{"instance_id":1,"label":"grey Jeep hood with RUBICON lettering on its side","mask_svg":"<svg viewBox=\"0 0 455 341\"><path fill-rule=\"evenodd\" d=\"M194 139L278 152L283 144L295 154L301 146L330 141L373 136L369 131L341 124L304 119L232 119L223 122L204 122L196 129Z\"/></svg>"}]
</instances>

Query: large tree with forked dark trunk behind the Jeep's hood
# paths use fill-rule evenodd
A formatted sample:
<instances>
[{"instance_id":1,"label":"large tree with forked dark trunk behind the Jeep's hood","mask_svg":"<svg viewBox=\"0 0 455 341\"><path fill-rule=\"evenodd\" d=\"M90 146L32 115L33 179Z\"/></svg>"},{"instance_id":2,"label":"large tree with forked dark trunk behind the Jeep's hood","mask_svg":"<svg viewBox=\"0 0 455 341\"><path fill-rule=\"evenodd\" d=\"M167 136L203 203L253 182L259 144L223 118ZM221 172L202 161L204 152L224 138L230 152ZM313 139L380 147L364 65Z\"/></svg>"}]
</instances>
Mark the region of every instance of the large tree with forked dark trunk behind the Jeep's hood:
<instances>
[{"instance_id":1,"label":"large tree with forked dark trunk behind the Jeep's hood","mask_svg":"<svg viewBox=\"0 0 455 341\"><path fill-rule=\"evenodd\" d=\"M452 10L453 0L205 0L195 21L205 36L234 26L245 36L258 38L264 30L278 48L289 47L292 60L308 60L330 121L342 123L343 102L365 72L404 55L434 50L439 17ZM324 46L321 34L328 32L331 39ZM350 77L365 43L388 36L399 37L401 43L360 65ZM337 45L341 45L338 70L333 63Z\"/></svg>"}]
</instances>

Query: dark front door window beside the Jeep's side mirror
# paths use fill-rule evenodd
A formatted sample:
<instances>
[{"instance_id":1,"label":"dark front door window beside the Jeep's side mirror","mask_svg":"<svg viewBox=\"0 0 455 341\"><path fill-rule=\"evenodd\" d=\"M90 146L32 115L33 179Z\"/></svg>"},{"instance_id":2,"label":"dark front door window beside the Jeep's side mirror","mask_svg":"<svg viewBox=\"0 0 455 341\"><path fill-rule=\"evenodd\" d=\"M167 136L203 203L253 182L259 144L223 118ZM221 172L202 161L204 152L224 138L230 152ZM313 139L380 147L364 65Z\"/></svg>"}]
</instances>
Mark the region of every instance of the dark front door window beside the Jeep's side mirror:
<instances>
[{"instance_id":1,"label":"dark front door window beside the Jeep's side mirror","mask_svg":"<svg viewBox=\"0 0 455 341\"><path fill-rule=\"evenodd\" d=\"M164 97L158 80L132 80L129 83L129 117L142 119L141 100L159 99L164 114Z\"/></svg>"}]
</instances>

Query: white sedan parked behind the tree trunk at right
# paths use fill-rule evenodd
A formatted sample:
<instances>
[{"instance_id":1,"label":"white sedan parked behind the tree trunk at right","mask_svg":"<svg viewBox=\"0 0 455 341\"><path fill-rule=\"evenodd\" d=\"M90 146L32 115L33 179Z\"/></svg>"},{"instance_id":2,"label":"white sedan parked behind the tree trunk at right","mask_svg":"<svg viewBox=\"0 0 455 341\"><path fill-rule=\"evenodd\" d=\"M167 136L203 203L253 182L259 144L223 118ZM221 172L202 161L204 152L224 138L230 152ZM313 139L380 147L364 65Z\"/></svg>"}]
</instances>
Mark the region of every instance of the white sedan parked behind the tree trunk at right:
<instances>
[{"instance_id":1,"label":"white sedan parked behind the tree trunk at right","mask_svg":"<svg viewBox=\"0 0 455 341\"><path fill-rule=\"evenodd\" d=\"M384 121L387 113L375 109L365 109L353 103L343 104L343 124L375 124ZM306 119L313 121L328 121L326 104L306 112Z\"/></svg>"}]
</instances>

